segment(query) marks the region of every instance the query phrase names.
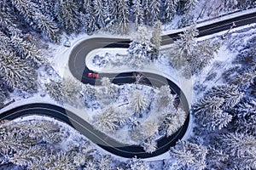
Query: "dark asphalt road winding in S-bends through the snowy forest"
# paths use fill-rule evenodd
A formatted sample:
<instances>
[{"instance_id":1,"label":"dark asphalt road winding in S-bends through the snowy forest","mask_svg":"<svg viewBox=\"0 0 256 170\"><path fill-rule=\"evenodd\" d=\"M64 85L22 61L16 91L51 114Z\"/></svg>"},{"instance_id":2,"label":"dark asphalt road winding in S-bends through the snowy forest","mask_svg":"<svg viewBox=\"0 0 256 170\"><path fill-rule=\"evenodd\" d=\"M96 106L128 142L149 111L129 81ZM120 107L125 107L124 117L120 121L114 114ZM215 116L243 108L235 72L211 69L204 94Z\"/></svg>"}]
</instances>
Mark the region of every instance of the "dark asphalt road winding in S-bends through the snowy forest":
<instances>
[{"instance_id":1,"label":"dark asphalt road winding in S-bends through the snowy forest","mask_svg":"<svg viewBox=\"0 0 256 170\"><path fill-rule=\"evenodd\" d=\"M237 26L245 26L247 24L256 23L256 14L245 14L242 16L235 17L229 20L219 21L217 23L209 24L207 26L201 26L197 29L199 30L198 37L203 37L207 35L211 35L213 33L217 33L219 31L227 31L230 29L230 26L235 22ZM161 45L167 45L173 42L173 40L178 39L178 34L182 32L176 32L170 35L166 35L162 37ZM91 79L87 77L88 72L90 71L85 65L85 57L87 54L96 48L128 48L130 39L119 39L119 38L91 38L84 40L84 42L79 43L77 46L73 48L72 53L70 54L69 59L69 69L73 74L73 77L76 77L79 81L84 83L90 83L93 85L99 85L100 79ZM82 118L77 116L71 111L67 111L64 108L58 107L56 105L49 104L29 104L29 105L21 105L16 107L15 109L5 111L0 114L0 119L8 119L12 120L20 116L28 116L28 115L43 115L43 116L51 116L55 117L62 122L67 122L72 127L75 127L80 133L84 134L88 139L90 139L93 143L98 144L104 150L108 150L109 152L123 157L152 157L159 156L162 153L165 153L169 150L171 146L173 146L177 139L181 139L183 134L186 132L186 129L189 124L189 104L187 102L186 97L180 88L177 87L175 83L171 80L168 80L166 77L162 77L160 75L156 75L153 73L143 72L144 76L148 78L149 82L153 83L154 86L160 87L164 84L169 84L172 88L172 92L178 94L180 97L179 102L182 105L183 109L188 112L188 117L183 127L181 127L177 133L174 133L171 137L162 138L158 141L158 149L152 153L148 154L143 151L142 147L137 145L127 145L121 144L118 141L111 139L106 134L96 131L88 122L85 122ZM131 83L134 82L134 78L132 77L131 72L122 72L117 74L106 74L101 73L101 77L109 77L112 82L117 84L122 83Z\"/></svg>"}]
</instances>

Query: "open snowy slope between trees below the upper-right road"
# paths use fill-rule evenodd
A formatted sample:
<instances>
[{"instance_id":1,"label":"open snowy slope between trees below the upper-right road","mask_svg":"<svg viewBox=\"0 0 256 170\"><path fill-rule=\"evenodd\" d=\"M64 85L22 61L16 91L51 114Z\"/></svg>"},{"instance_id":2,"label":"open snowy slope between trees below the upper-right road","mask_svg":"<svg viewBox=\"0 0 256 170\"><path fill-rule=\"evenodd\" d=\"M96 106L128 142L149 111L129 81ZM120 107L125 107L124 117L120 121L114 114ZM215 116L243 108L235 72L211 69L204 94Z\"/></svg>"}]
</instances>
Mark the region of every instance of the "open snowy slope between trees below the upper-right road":
<instances>
[{"instance_id":1,"label":"open snowy slope between trees below the upper-right road","mask_svg":"<svg viewBox=\"0 0 256 170\"><path fill-rule=\"evenodd\" d=\"M215 55L212 59L211 64L207 65L199 75L193 77L194 80L194 90L193 90L193 100L192 103L195 103L197 99L200 99L204 91L212 88L216 85L221 85L222 82L222 73L230 67L233 66L232 61L236 58L239 49L247 42L247 39L251 35L256 33L256 24L241 26L238 28L232 29L230 33L226 36L226 39L222 40L222 45L218 50L218 54ZM207 38L221 36L221 32L209 37L200 37L198 41L206 40ZM231 48L236 47L236 48ZM212 80L208 80L213 74L217 74ZM195 90L197 85L201 84L201 88Z\"/></svg>"}]
</instances>

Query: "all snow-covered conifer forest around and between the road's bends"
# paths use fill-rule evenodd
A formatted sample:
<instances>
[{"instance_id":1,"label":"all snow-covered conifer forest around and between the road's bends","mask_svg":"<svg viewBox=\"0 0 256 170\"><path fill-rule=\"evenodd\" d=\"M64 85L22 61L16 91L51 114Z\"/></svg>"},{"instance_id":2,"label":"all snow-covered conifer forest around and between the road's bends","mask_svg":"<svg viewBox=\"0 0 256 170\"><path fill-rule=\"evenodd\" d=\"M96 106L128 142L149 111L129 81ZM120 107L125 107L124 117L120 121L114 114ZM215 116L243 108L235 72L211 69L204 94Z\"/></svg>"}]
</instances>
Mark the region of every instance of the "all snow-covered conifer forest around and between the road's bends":
<instances>
[{"instance_id":1,"label":"all snow-covered conifer forest around and between the road's bends","mask_svg":"<svg viewBox=\"0 0 256 170\"><path fill-rule=\"evenodd\" d=\"M156 140L177 132L187 116L170 87L148 87L140 75L121 86L102 77L93 87L60 77L49 61L50 47L100 31L132 35L128 58L111 56L118 62L105 65L141 69L165 61L164 69L194 79L195 94L192 131L162 160L124 161L72 127L35 116L1 120L0 169L256 169L256 27L200 39L195 24L255 7L253 0L0 1L0 109L17 96L48 96L90 112L86 121L109 136L154 152ZM172 46L160 49L161 31L183 27Z\"/></svg>"}]
</instances>

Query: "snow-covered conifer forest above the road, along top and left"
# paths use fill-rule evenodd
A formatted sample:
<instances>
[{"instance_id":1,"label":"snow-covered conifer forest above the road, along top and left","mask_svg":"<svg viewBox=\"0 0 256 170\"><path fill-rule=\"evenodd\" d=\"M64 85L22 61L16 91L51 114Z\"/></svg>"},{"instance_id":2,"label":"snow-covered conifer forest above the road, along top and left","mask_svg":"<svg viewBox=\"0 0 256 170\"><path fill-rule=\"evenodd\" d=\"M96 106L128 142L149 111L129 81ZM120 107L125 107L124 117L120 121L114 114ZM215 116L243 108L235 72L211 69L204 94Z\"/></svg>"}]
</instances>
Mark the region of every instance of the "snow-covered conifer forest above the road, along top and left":
<instances>
[{"instance_id":1,"label":"snow-covered conifer forest above the road, along top and left","mask_svg":"<svg viewBox=\"0 0 256 170\"><path fill-rule=\"evenodd\" d=\"M253 0L216 3L218 12L222 13L255 6ZM41 65L48 70L49 66L40 52L47 45L45 47L40 39L59 43L63 34L91 33L100 29L125 34L130 29L129 23L135 23L136 27L154 26L160 20L165 25L172 22L174 15L182 16L179 20L181 25L188 26L205 14L207 5L201 8L201 16L194 16L190 20L193 9L199 4L197 0L1 1L0 43L3 47L1 56L4 57L0 62L0 104L3 105L3 100L15 89L30 94L37 91L38 73L35 70ZM208 17L211 14L207 14Z\"/></svg>"}]
</instances>

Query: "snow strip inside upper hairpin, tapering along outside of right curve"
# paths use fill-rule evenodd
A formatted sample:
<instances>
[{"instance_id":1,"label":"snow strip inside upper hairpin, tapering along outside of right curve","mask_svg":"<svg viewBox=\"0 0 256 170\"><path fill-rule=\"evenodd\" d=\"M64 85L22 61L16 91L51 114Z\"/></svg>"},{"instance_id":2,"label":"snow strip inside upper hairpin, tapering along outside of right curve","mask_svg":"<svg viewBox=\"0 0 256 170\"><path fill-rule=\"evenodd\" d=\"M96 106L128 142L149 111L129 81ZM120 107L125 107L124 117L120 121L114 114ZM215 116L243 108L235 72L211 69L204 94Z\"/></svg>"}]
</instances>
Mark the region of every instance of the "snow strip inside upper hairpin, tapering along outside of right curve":
<instances>
[{"instance_id":1,"label":"snow strip inside upper hairpin, tapering along outside of right curve","mask_svg":"<svg viewBox=\"0 0 256 170\"><path fill-rule=\"evenodd\" d=\"M108 53L108 55L106 55ZM154 61L154 63L151 63L150 65L145 65L145 67L140 69L131 68L129 65L111 65L111 58L116 58L115 56L119 55L119 60L121 61L122 57L125 57L127 54L126 48L100 48L95 49L91 51L85 59L85 63L87 67L96 72L107 72L107 73L119 73L119 72L131 72L131 71L137 71L137 72L149 72L158 74L160 76L166 77L175 84L179 88L183 90L183 93L186 95L188 101L191 101L191 91L192 91L192 80L186 79L180 76L180 73L176 71L175 68L173 68L168 60L165 57L160 57L160 59L157 59ZM109 65L100 65L96 64L93 61L95 61L96 56L100 56L100 59L104 59L105 62L108 62Z\"/></svg>"}]
</instances>

